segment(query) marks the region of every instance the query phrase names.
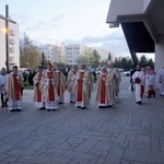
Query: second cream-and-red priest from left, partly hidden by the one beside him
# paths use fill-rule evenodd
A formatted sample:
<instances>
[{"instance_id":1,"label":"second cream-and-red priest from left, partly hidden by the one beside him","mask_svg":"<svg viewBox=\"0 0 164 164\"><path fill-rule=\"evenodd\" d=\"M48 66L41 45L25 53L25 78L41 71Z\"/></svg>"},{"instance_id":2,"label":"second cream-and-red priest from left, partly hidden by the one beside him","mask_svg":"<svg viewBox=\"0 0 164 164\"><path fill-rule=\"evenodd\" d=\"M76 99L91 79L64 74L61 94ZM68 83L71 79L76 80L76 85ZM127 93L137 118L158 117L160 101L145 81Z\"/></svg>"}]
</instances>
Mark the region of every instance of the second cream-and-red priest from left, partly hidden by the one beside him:
<instances>
[{"instance_id":1,"label":"second cream-and-red priest from left, partly hidden by the one beside him","mask_svg":"<svg viewBox=\"0 0 164 164\"><path fill-rule=\"evenodd\" d=\"M40 79L43 77L42 66L38 66L37 70L38 70L38 72L33 78L33 82L34 82L34 102L35 102L35 107L36 108L45 109L44 93L39 90Z\"/></svg>"}]
</instances>

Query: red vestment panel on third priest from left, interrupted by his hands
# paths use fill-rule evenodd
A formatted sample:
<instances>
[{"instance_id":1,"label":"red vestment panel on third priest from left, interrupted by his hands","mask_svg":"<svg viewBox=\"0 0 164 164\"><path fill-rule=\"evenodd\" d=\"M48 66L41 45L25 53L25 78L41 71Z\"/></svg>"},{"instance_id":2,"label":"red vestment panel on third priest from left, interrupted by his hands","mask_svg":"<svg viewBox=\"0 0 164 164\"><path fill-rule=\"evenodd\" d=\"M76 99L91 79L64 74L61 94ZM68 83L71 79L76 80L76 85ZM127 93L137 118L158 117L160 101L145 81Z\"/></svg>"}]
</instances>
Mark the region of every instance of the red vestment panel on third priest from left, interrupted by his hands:
<instances>
[{"instance_id":1,"label":"red vestment panel on third priest from left, interrupted by his hands","mask_svg":"<svg viewBox=\"0 0 164 164\"><path fill-rule=\"evenodd\" d=\"M47 77L49 80L52 80L52 72L47 72ZM49 95L49 102L54 102L55 101L55 89L54 89L54 85L51 82L48 87L48 95Z\"/></svg>"}]
</instances>

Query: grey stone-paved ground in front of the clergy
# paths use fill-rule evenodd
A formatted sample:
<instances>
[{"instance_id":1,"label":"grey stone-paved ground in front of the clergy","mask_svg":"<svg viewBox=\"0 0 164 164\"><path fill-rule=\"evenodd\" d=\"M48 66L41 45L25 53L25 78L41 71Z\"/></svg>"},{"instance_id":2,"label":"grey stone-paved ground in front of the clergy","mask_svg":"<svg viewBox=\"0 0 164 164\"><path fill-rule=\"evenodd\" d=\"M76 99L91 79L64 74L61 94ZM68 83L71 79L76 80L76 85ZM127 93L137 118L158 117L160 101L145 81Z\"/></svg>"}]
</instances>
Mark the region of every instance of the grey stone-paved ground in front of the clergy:
<instances>
[{"instance_id":1,"label":"grey stone-paved ground in front of the clergy","mask_svg":"<svg viewBox=\"0 0 164 164\"><path fill-rule=\"evenodd\" d=\"M33 91L23 110L0 109L0 164L164 164L164 97L134 103L122 77L119 102L99 109L95 91L81 110L66 103L59 110L35 109Z\"/></svg>"}]
</instances>

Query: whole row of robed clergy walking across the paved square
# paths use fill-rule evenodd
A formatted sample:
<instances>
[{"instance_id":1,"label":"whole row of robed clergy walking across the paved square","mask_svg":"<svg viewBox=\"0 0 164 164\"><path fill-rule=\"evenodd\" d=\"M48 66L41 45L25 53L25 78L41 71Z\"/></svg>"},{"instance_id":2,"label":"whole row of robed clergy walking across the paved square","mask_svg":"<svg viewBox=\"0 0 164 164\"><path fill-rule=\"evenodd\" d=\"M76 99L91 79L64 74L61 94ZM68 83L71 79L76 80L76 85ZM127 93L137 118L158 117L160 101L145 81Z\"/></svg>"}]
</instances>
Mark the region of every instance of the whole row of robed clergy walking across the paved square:
<instances>
[{"instance_id":1,"label":"whole row of robed clergy walking across the paved square","mask_svg":"<svg viewBox=\"0 0 164 164\"><path fill-rule=\"evenodd\" d=\"M85 109L92 96L93 77L85 63L81 63L78 70L77 66L68 72L66 80L65 74L57 66L54 70L51 63L43 71L42 67L37 68L34 81L34 102L38 109L56 110L59 104L65 103L65 91L70 93L70 103L75 104L78 108ZM141 105L144 87L148 97L155 97L154 91L155 73L151 67L145 71L137 66L132 80L136 85L136 103ZM96 102L99 108L113 107L118 99L119 84L121 75L118 70L113 68L112 62L108 67L102 67L101 74L97 78ZM159 71L159 82L161 83L160 94L164 95L164 67ZM17 66L12 68L10 74L5 69L1 69L0 74L0 93L1 107L8 107L9 112L19 112L22 109L23 96L23 75L19 73Z\"/></svg>"}]
</instances>

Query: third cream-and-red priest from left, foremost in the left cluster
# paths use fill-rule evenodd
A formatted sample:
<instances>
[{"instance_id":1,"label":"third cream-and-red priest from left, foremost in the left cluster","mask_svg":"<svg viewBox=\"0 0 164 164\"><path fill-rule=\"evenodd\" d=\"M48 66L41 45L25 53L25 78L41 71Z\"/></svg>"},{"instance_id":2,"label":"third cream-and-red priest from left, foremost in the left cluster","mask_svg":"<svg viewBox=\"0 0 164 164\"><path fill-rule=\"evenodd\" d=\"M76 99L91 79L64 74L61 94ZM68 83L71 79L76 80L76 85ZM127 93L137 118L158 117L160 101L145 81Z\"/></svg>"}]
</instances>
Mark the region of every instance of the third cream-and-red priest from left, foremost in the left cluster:
<instances>
[{"instance_id":1,"label":"third cream-and-red priest from left, foremost in the left cluster","mask_svg":"<svg viewBox=\"0 0 164 164\"><path fill-rule=\"evenodd\" d=\"M40 80L40 91L44 93L45 107L47 110L58 109L57 101L59 96L55 86L56 72L52 69L51 63L47 65L47 70L43 72Z\"/></svg>"}]
</instances>

